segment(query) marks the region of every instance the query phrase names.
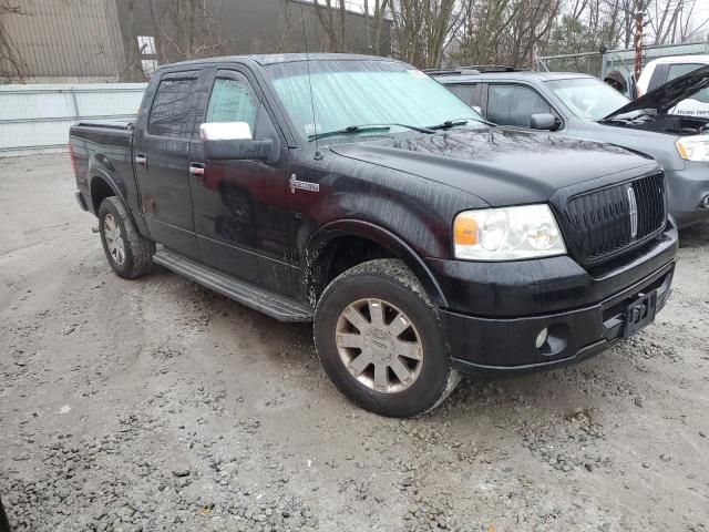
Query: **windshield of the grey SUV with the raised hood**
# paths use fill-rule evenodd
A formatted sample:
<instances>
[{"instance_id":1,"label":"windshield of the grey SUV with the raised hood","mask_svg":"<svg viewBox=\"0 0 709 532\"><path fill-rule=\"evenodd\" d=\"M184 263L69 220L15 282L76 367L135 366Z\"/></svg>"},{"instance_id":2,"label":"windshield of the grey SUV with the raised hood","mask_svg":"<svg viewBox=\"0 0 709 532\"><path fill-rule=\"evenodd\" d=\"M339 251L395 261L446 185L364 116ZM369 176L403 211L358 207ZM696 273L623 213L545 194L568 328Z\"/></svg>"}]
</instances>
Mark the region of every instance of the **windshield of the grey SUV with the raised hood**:
<instances>
[{"instance_id":1,"label":"windshield of the grey SUV with the raised hood","mask_svg":"<svg viewBox=\"0 0 709 532\"><path fill-rule=\"evenodd\" d=\"M605 119L630 100L595 78L547 81L552 92L582 120Z\"/></svg>"}]
</instances>

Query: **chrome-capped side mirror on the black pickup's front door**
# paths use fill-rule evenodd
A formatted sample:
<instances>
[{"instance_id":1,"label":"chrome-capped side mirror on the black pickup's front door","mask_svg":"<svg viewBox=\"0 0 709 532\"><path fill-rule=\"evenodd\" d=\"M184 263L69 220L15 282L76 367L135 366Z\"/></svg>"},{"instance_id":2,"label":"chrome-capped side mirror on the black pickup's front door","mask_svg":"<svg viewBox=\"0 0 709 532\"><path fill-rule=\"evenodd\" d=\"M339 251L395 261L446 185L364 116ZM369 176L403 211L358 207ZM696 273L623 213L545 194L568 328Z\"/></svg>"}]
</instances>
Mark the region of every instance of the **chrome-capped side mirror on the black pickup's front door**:
<instances>
[{"instance_id":1,"label":"chrome-capped side mirror on the black pickup's front door","mask_svg":"<svg viewBox=\"0 0 709 532\"><path fill-rule=\"evenodd\" d=\"M207 122L199 126L205 157L213 161L251 160L271 157L274 141L255 141L246 122Z\"/></svg>"}]
</instances>

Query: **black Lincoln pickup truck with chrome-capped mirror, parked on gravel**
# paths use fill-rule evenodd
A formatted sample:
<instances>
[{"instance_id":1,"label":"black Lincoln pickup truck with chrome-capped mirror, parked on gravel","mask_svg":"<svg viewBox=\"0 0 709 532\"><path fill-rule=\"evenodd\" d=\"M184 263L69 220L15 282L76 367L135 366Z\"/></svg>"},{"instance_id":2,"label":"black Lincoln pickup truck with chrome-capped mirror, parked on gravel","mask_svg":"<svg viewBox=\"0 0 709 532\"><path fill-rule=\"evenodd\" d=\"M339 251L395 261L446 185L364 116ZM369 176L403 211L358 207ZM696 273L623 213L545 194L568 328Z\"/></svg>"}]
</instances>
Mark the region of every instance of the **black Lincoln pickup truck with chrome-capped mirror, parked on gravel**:
<instances>
[{"instance_id":1,"label":"black Lincoln pickup truck with chrome-capped mirror, parked on gravel","mask_svg":"<svg viewBox=\"0 0 709 532\"><path fill-rule=\"evenodd\" d=\"M390 59L163 66L134 124L79 123L70 152L120 276L157 263L314 321L335 385L386 416L434 408L461 372L585 359L670 293L655 161L493 126Z\"/></svg>"}]
</instances>

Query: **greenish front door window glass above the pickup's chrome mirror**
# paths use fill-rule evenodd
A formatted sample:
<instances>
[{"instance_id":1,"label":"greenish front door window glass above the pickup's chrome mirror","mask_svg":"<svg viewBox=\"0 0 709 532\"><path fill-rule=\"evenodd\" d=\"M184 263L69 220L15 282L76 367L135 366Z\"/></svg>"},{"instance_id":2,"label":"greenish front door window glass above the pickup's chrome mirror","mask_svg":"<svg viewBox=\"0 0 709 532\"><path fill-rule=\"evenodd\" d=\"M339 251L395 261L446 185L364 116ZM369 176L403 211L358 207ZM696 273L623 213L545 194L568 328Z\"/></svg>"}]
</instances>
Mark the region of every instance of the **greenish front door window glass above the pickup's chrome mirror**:
<instances>
[{"instance_id":1,"label":"greenish front door window glass above the pickup's chrome mirror","mask_svg":"<svg viewBox=\"0 0 709 532\"><path fill-rule=\"evenodd\" d=\"M233 74L235 75L235 74ZM248 80L217 78L209 96L206 122L246 122L254 131L256 96Z\"/></svg>"}]
</instances>

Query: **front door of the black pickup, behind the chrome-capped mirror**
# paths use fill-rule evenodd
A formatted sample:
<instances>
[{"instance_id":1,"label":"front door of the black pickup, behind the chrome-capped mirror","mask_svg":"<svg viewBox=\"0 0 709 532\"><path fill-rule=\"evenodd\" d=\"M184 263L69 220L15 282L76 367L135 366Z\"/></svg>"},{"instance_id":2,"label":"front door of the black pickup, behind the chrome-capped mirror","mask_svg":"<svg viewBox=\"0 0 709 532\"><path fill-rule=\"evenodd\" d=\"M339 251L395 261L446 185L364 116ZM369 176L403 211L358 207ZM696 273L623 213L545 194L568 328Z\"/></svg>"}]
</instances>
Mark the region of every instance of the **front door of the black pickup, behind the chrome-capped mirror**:
<instances>
[{"instance_id":1,"label":"front door of the black pickup, behind the chrome-capped mirror","mask_svg":"<svg viewBox=\"0 0 709 532\"><path fill-rule=\"evenodd\" d=\"M285 143L247 72L219 70L209 83L202 122L247 122L256 140ZM191 163L195 233L202 260L268 288L292 293L291 214L287 208L287 152L277 163L207 161L195 143Z\"/></svg>"}]
</instances>

